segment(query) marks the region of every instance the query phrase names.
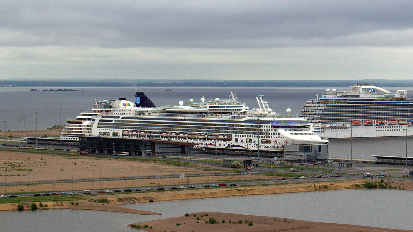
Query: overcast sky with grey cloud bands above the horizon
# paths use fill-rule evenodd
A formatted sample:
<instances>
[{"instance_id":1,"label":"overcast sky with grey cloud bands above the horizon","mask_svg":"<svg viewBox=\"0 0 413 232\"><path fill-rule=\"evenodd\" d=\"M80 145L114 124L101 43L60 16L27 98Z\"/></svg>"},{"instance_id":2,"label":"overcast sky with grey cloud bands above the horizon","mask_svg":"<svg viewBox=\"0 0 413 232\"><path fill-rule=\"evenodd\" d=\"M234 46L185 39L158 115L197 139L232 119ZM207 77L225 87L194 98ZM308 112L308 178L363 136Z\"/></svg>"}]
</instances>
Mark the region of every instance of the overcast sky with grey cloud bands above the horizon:
<instances>
[{"instance_id":1,"label":"overcast sky with grey cloud bands above the horizon","mask_svg":"<svg viewBox=\"0 0 413 232\"><path fill-rule=\"evenodd\" d=\"M411 79L413 1L4 0L0 79Z\"/></svg>"}]
</instances>

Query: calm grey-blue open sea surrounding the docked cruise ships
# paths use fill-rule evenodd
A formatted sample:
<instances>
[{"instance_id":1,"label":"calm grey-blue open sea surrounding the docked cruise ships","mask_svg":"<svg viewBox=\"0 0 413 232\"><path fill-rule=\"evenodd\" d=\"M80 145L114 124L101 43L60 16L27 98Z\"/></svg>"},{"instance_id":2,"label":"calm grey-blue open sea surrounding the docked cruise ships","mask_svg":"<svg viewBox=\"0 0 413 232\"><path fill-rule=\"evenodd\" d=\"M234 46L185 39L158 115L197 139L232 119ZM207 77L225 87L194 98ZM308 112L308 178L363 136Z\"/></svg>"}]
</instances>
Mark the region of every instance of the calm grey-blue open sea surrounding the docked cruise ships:
<instances>
[{"instance_id":1,"label":"calm grey-blue open sea surrounding the docked cruise ships","mask_svg":"<svg viewBox=\"0 0 413 232\"><path fill-rule=\"evenodd\" d=\"M306 103L307 99L321 96L326 87L306 88L306 87L172 87L172 91L165 91L165 87L60 87L61 89L78 89L81 91L28 91L31 87L0 87L0 129L14 130L17 122L23 116L24 120L19 125L19 130L39 130L41 135L43 129L60 124L60 110L62 108L62 125L66 124L66 119L75 118L82 110L93 107L96 100L118 99L124 97L129 101L134 101L135 92L143 91L157 106L178 105L179 101L187 103L190 99L199 101L202 96L209 99L227 99L230 91L237 94L240 101L246 103L249 108L257 107L255 97L263 95L268 101L270 108L278 113L285 113L287 108L291 109L291 114L297 115ZM349 87L329 87L337 90L349 89ZM36 87L36 89L58 89L58 87ZM395 92L398 88L388 88ZM399 88L400 89L400 88ZM413 91L413 88L404 88ZM36 120L36 112L37 120ZM6 121L5 124L4 121ZM408 156L411 157L413 138L408 138ZM353 139L350 146L350 139L330 140L330 156L347 158L352 147L353 158L371 159L371 155L392 155L406 156L405 138L367 138Z\"/></svg>"}]
</instances>

